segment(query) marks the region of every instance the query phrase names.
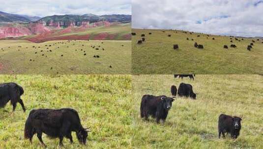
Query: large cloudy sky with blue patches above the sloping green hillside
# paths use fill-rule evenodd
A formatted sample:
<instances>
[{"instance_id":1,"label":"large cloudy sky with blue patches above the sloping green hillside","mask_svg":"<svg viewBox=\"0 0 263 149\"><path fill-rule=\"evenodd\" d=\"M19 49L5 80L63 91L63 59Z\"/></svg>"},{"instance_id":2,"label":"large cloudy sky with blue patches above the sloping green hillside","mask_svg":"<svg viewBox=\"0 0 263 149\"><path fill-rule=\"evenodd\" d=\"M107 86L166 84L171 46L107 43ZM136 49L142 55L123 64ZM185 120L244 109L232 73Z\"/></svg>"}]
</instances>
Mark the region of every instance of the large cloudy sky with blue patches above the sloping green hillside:
<instances>
[{"instance_id":1,"label":"large cloudy sky with blue patches above the sloping green hillside","mask_svg":"<svg viewBox=\"0 0 263 149\"><path fill-rule=\"evenodd\" d=\"M132 0L132 27L263 37L263 0Z\"/></svg>"}]
</instances>

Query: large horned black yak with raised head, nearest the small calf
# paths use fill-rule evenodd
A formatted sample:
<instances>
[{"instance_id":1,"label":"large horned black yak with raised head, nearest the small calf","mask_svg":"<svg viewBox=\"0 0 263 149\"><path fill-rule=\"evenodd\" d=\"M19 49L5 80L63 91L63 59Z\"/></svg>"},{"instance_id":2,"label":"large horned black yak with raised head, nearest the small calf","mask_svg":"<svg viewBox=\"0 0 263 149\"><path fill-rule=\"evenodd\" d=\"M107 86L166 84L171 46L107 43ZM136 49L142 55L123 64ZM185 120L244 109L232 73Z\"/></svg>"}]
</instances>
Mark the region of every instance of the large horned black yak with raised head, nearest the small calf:
<instances>
[{"instance_id":1,"label":"large horned black yak with raised head, nearest the small calf","mask_svg":"<svg viewBox=\"0 0 263 149\"><path fill-rule=\"evenodd\" d=\"M141 118L148 121L148 116L152 116L156 123L160 123L160 120L165 122L174 100L174 98L165 95L144 95L141 102Z\"/></svg>"}]
</instances>

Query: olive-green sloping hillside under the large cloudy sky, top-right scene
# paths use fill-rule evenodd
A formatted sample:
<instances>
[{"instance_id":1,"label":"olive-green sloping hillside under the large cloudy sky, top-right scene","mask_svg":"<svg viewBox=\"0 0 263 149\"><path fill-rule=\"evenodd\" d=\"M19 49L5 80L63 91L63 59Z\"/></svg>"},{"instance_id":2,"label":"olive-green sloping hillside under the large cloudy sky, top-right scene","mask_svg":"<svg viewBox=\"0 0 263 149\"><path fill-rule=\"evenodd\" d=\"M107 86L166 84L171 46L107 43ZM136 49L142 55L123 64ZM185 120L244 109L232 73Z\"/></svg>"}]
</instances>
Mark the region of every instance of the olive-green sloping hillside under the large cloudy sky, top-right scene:
<instances>
[{"instance_id":1,"label":"olive-green sloping hillside under the large cloudy sky, top-right scene","mask_svg":"<svg viewBox=\"0 0 263 149\"><path fill-rule=\"evenodd\" d=\"M190 34L175 30L132 29L132 32L137 34L132 36L134 74L263 73L263 40L256 41L252 51L248 51L247 46L252 43L252 39L238 38L239 42L233 37L213 35L208 37L206 34ZM152 35L149 35L149 32ZM146 42L138 45L137 41L141 40L141 34L146 35ZM171 37L168 37L169 34ZM197 37L198 35L200 37ZM230 38L233 38L233 43L230 42ZM195 42L204 45L204 50L195 48ZM178 44L179 50L173 49L174 44ZM237 48L230 48L231 44L235 44ZM224 45L228 45L229 49L224 49Z\"/></svg>"}]
</instances>

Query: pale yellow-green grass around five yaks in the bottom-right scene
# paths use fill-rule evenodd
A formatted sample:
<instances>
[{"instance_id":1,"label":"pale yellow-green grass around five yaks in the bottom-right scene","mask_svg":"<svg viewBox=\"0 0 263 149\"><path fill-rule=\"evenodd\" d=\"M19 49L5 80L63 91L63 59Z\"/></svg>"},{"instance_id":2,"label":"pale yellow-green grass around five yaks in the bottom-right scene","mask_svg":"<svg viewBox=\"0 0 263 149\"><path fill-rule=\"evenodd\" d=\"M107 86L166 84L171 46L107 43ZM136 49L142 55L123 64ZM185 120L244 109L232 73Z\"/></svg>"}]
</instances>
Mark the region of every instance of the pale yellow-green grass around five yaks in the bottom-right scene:
<instances>
[{"instance_id":1,"label":"pale yellow-green grass around five yaks in the bottom-right scene","mask_svg":"<svg viewBox=\"0 0 263 149\"><path fill-rule=\"evenodd\" d=\"M170 87L193 85L196 100L177 98L167 122L140 118L145 94L171 96ZM196 75L195 80L173 75L133 75L133 146L137 149L262 149L263 76ZM218 139L218 116L244 115L240 136Z\"/></svg>"}]
</instances>

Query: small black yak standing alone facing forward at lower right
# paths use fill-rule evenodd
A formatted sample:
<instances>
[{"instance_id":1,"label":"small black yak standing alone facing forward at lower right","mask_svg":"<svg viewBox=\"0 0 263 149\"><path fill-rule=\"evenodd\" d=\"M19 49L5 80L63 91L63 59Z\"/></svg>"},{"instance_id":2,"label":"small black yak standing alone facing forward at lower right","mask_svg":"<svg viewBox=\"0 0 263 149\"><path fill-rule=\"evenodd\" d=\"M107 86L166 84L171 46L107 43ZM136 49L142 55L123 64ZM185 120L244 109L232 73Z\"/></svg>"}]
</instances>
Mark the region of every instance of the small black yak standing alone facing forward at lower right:
<instances>
[{"instance_id":1,"label":"small black yak standing alone facing forward at lower right","mask_svg":"<svg viewBox=\"0 0 263 149\"><path fill-rule=\"evenodd\" d=\"M225 138L225 133L230 133L231 137L236 139L241 129L241 118L221 114L218 118L218 138L221 138L221 134Z\"/></svg>"}]
</instances>

